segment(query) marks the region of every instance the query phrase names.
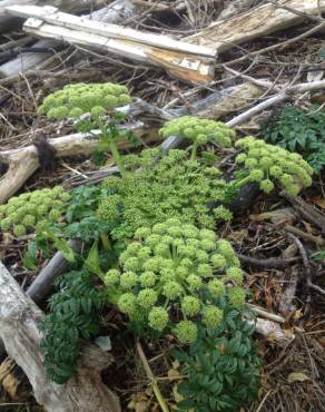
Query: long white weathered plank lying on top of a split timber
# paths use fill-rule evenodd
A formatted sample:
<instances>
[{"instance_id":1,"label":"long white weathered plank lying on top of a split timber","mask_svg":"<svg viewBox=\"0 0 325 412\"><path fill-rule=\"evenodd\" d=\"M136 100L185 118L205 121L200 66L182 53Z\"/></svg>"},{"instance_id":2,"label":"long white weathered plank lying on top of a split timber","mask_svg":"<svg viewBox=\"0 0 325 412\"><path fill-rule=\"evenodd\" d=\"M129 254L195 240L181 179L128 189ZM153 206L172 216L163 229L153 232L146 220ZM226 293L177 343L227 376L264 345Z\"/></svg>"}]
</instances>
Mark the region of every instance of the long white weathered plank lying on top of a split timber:
<instances>
[{"instance_id":1,"label":"long white weathered plank lying on top of a split timber","mask_svg":"<svg viewBox=\"0 0 325 412\"><path fill-rule=\"evenodd\" d=\"M144 43L159 49L180 53L215 58L216 50L204 46L196 46L186 41L175 40L162 35L152 35L129 29L124 26L92 21L88 18L63 13L55 7L11 6L6 8L10 14L22 18L36 18L56 27L98 35L108 39Z\"/></svg>"}]
</instances>

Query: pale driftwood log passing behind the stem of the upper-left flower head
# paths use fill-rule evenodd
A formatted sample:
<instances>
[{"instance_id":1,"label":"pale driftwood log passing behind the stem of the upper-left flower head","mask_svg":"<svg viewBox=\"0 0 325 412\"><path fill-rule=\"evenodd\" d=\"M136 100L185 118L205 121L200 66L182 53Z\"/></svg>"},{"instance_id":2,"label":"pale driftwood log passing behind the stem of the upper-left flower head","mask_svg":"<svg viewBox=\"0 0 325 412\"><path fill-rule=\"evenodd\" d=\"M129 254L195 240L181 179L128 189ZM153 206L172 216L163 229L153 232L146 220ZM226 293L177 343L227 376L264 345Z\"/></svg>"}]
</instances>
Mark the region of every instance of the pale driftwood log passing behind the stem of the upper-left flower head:
<instances>
[{"instance_id":1,"label":"pale driftwood log passing behind the stem of the upper-left flower head","mask_svg":"<svg viewBox=\"0 0 325 412\"><path fill-rule=\"evenodd\" d=\"M138 122L128 127L138 135L142 134L142 124ZM99 130L91 134L73 134L49 139L57 157L89 155L98 144ZM127 140L120 141L120 147L126 147ZM0 177L0 204L7 202L24 182L40 167L38 151L35 146L20 149L0 151L0 163L8 165L7 173Z\"/></svg>"}]
</instances>

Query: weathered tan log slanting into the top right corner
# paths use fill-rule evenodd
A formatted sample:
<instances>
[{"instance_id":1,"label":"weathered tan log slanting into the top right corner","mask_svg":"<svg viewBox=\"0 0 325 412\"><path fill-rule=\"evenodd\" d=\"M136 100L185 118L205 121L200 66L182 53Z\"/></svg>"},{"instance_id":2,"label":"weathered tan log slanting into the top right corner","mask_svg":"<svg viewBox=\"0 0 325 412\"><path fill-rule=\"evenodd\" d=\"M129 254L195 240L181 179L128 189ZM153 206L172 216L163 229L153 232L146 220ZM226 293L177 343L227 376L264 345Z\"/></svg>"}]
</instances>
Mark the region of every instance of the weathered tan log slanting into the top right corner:
<instances>
[{"instance_id":1,"label":"weathered tan log slanting into the top right corner","mask_svg":"<svg viewBox=\"0 0 325 412\"><path fill-rule=\"evenodd\" d=\"M279 0L278 3L307 14L325 11L325 0ZM290 11L266 3L240 16L211 23L199 33L183 40L196 45L215 47L218 52L272 32L295 26L304 18Z\"/></svg>"}]
</instances>

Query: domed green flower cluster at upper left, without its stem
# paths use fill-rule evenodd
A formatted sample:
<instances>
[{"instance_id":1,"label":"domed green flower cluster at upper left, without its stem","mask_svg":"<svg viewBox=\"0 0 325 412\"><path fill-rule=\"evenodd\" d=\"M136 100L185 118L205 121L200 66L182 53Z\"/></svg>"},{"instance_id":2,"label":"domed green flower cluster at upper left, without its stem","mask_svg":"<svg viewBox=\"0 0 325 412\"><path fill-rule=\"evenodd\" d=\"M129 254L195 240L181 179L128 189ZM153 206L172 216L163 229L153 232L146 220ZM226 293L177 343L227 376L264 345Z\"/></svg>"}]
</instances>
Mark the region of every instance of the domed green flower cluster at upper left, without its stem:
<instances>
[{"instance_id":1,"label":"domed green flower cluster at upper left, without its stem","mask_svg":"<svg viewBox=\"0 0 325 412\"><path fill-rule=\"evenodd\" d=\"M131 101L127 87L107 84L67 85L43 99L38 112L50 119L79 118L90 114L101 117L106 111Z\"/></svg>"}]
</instances>

